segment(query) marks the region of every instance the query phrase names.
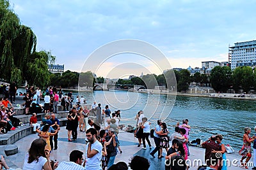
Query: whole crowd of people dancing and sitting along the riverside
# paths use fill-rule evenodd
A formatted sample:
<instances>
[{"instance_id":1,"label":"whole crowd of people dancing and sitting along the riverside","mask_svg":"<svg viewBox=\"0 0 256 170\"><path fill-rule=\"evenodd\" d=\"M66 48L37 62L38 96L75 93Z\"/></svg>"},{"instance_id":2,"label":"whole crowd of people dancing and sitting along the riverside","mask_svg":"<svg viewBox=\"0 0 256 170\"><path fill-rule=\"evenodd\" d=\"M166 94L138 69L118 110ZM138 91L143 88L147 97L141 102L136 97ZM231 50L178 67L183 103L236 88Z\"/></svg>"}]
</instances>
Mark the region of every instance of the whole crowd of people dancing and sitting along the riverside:
<instances>
[{"instance_id":1,"label":"whole crowd of people dancing and sitting along the riverside","mask_svg":"<svg viewBox=\"0 0 256 170\"><path fill-rule=\"evenodd\" d=\"M30 92L29 92L30 91ZM40 97L42 92L40 88L33 90L31 87L24 96L24 106L26 107L26 115L29 113L31 105L42 108L40 104ZM1 120L0 120L0 133L4 127L8 127L11 131L15 130L15 127L19 127L20 121L18 118L13 117L15 111L13 110L12 103L15 103L15 97L12 97L12 102L8 101L8 97L3 97L0 102ZM68 111L67 115L67 136L68 142L77 140L77 129L79 132L85 133L84 140L86 141L86 150L83 152L79 150L73 150L70 153L69 162L63 161L60 164L50 159L52 150L58 148L58 131L60 131L60 121L56 118L55 113L57 111L57 105L61 103L61 106ZM72 104L76 103L76 104ZM106 105L104 109L101 108L101 104L96 102L92 103L90 109L85 104L86 100L83 96L76 97L72 101L72 92L67 95L63 95L62 92L57 93L55 89L51 87L47 90L44 96L44 109L45 117L42 119L42 124L38 124L36 113L33 113L29 125L33 127L33 132L38 133L39 139L36 139L31 143L31 147L25 157L23 169L148 169L150 163L143 157L134 157L130 164L125 162L118 162L115 164L115 158L118 154L122 154L120 142L118 139L118 131L120 129L120 110L111 113L109 106ZM8 106L10 105L10 108ZM89 118L90 113L96 116L93 120ZM188 119L182 120L182 124L177 123L174 132L170 134L170 131L165 122L157 120L157 125L154 129L151 129L151 123L148 118L145 117L143 111L139 111L136 115L136 131L134 136L138 138L138 147L142 145L143 150L150 150L150 156L157 159L166 159L165 169L189 169L186 165L186 160L189 158L189 132L191 127L189 126ZM104 126L102 129L100 126ZM256 127L255 127L256 131ZM253 163L256 165L256 135L250 137L251 129L246 127L244 129L243 147L239 151L241 158L241 166L248 169L247 163L252 157L251 143L253 143ZM149 136L154 138L155 148L152 149L152 143ZM217 134L211 136L207 141L202 143L202 147L205 148L205 164L206 166L200 166L198 169L227 169L226 161L226 148L221 142L223 136ZM146 145L147 141L147 145ZM163 156L163 149L166 150L166 156ZM157 153L157 155L156 155ZM216 153L221 153L221 157L216 157ZM84 154L84 156L83 156ZM8 169L4 158L1 157L1 166ZM211 160L216 160L211 161ZM245 161L244 161L245 160ZM143 164L143 167L138 167L139 163ZM177 162L181 162L177 164ZM134 166L136 165L136 166ZM253 167L256 169L256 167Z\"/></svg>"}]
</instances>

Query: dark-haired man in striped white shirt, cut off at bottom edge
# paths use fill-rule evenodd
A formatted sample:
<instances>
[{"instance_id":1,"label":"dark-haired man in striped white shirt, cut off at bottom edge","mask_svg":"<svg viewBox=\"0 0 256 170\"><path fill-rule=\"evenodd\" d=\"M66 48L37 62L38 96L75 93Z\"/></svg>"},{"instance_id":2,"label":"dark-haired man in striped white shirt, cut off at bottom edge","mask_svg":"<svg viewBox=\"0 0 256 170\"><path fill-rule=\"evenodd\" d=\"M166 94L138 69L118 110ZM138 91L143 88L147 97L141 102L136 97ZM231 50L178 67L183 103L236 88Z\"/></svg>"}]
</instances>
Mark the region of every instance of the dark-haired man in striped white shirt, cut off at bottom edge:
<instances>
[{"instance_id":1,"label":"dark-haired man in striped white shirt, cut off at bottom edge","mask_svg":"<svg viewBox=\"0 0 256 170\"><path fill-rule=\"evenodd\" d=\"M56 170L68 169L68 170L84 170L84 167L81 166L84 159L83 159L83 152L79 150L73 150L69 155L69 161L61 162Z\"/></svg>"}]
</instances>

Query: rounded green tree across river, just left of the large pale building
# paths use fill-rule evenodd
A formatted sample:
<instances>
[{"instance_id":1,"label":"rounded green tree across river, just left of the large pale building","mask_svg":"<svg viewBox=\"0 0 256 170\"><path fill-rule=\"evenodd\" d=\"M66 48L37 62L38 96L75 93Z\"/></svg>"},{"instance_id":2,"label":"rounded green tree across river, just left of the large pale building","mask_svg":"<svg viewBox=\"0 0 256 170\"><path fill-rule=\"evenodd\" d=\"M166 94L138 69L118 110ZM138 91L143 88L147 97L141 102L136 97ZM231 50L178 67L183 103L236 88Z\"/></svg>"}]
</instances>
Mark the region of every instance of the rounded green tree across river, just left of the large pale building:
<instances>
[{"instance_id":1,"label":"rounded green tree across river, just left of the large pale building","mask_svg":"<svg viewBox=\"0 0 256 170\"><path fill-rule=\"evenodd\" d=\"M232 71L230 67L227 67L227 66L214 67L210 75L210 82L211 82L212 88L216 92L227 92L227 90L230 88L230 85L231 85L231 82L230 82L231 75L232 75Z\"/></svg>"}]
</instances>

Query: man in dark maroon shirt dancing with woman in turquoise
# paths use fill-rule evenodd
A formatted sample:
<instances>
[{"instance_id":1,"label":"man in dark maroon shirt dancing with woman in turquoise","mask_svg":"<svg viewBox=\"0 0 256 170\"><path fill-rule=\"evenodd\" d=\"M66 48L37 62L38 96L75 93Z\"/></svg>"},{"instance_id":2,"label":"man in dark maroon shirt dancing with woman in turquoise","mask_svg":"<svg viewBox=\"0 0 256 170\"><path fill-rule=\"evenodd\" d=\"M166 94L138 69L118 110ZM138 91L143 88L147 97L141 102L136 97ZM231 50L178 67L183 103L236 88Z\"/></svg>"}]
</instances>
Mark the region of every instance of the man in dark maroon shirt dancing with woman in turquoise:
<instances>
[{"instance_id":1,"label":"man in dark maroon shirt dancing with woman in turquoise","mask_svg":"<svg viewBox=\"0 0 256 170\"><path fill-rule=\"evenodd\" d=\"M205 164L207 164L207 166L210 166L210 158L211 158L211 151L212 150L221 150L221 146L218 145L217 143L215 143L216 141L216 137L215 136L211 136L210 139L208 139L207 141L205 141L204 143L202 143L202 147L205 148L205 156L204 156L204 160L205 160Z\"/></svg>"}]
</instances>

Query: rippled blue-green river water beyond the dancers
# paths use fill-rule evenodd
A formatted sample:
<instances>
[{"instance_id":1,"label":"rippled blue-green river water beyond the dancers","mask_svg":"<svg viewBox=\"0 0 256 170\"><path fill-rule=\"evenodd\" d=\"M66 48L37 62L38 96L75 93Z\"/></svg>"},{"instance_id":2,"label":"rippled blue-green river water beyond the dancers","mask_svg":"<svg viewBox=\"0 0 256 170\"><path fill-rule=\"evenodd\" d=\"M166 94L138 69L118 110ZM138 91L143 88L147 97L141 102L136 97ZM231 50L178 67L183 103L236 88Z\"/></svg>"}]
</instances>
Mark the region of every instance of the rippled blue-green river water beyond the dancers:
<instances>
[{"instance_id":1,"label":"rippled blue-green river water beyond the dancers","mask_svg":"<svg viewBox=\"0 0 256 170\"><path fill-rule=\"evenodd\" d=\"M77 93L73 94L76 98ZM178 121L181 123L182 119L188 118L191 126L190 141L196 138L205 141L212 134L222 134L223 143L239 150L243 145L244 127L251 127L252 135L255 133L256 101L175 97L127 91L79 92L79 95L84 96L88 104L96 101L102 104L102 108L108 104L111 112L121 110L120 124L134 126L134 116L143 110L152 122L151 128L161 117L172 133Z\"/></svg>"}]
</instances>

